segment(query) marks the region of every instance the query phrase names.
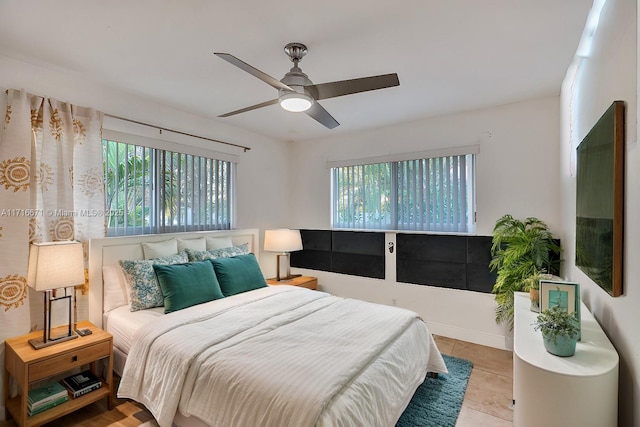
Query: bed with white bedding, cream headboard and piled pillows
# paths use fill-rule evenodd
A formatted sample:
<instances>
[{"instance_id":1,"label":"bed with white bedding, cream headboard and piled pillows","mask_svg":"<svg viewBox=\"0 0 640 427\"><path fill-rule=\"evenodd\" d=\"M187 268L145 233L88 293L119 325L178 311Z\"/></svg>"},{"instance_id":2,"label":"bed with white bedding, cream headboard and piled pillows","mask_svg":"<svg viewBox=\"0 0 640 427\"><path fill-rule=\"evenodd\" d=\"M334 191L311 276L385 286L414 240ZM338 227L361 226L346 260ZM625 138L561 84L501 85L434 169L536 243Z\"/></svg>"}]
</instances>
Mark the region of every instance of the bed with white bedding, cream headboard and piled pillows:
<instances>
[{"instance_id":1,"label":"bed with white bedding, cream headboard and piled pillows","mask_svg":"<svg viewBox=\"0 0 640 427\"><path fill-rule=\"evenodd\" d=\"M126 295L114 302L120 261L150 258L149 247L162 252L172 239L242 248L220 248L226 259L155 267L162 278L213 264L224 297L183 308L165 295L165 307L136 311ZM91 240L90 320L114 337L120 397L144 404L161 427L393 426L427 372L447 372L424 322L408 310L265 286L264 277L230 292L230 273L244 271L241 261L257 266L258 248L256 229Z\"/></svg>"}]
</instances>

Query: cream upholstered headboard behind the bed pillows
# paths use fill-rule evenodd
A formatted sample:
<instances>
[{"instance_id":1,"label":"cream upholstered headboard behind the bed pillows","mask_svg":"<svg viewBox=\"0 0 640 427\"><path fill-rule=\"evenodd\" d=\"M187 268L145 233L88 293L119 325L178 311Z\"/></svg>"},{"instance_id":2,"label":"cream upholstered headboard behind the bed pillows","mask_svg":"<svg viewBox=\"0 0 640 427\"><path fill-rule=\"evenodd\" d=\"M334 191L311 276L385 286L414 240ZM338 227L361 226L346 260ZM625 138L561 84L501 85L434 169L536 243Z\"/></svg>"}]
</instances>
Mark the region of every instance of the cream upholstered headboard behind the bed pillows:
<instances>
[{"instance_id":1,"label":"cream upholstered headboard behind the bed pillows","mask_svg":"<svg viewBox=\"0 0 640 427\"><path fill-rule=\"evenodd\" d=\"M102 266L117 264L121 259L144 259L142 243L145 242L161 242L172 238L195 239L204 236L231 236L234 245L247 243L249 252L253 252L256 257L260 252L260 235L256 228L104 237L89 240L89 320L94 325L102 327Z\"/></svg>"}]
</instances>

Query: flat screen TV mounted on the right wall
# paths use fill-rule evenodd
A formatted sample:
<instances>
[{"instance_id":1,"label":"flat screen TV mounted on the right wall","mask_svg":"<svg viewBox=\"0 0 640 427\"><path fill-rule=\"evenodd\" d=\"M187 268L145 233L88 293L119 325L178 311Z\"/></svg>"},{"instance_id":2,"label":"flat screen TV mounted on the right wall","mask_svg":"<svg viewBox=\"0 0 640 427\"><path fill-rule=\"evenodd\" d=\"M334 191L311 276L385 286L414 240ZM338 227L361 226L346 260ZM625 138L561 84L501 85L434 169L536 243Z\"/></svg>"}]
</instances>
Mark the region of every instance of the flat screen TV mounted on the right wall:
<instances>
[{"instance_id":1,"label":"flat screen TV mounted on the right wall","mask_svg":"<svg viewBox=\"0 0 640 427\"><path fill-rule=\"evenodd\" d=\"M622 295L624 101L614 101L577 152L576 266L612 296Z\"/></svg>"}]
</instances>

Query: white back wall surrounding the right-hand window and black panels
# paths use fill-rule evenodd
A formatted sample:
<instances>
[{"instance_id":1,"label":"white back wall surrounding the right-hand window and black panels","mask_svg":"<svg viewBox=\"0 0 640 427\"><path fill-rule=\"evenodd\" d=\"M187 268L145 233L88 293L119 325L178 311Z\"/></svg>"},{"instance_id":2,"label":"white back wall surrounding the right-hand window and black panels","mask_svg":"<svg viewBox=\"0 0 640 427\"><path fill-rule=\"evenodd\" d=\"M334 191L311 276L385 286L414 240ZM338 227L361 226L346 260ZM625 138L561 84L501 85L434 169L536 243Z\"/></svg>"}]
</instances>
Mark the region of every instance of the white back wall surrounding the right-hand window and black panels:
<instances>
[{"instance_id":1,"label":"white back wall surrounding the right-hand window and black panels","mask_svg":"<svg viewBox=\"0 0 640 427\"><path fill-rule=\"evenodd\" d=\"M480 145L477 156L477 234L491 235L506 213L535 216L557 232L561 224L559 159L560 98L552 96L370 132L293 144L291 227L330 227L327 160ZM320 286L417 311L432 332L499 348L509 334L495 324L493 296L395 281L308 271ZM505 336L507 340L505 341Z\"/></svg>"}]
</instances>

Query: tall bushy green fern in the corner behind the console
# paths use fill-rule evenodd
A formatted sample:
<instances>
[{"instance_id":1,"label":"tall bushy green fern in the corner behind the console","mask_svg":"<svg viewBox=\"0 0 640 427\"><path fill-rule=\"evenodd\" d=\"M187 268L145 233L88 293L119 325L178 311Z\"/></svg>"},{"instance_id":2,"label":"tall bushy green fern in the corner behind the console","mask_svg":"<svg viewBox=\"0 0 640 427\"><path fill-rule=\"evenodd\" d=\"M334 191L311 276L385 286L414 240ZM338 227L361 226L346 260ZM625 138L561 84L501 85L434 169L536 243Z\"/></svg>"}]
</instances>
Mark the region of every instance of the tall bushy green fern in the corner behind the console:
<instances>
[{"instance_id":1,"label":"tall bushy green fern in the corner behind the console","mask_svg":"<svg viewBox=\"0 0 640 427\"><path fill-rule=\"evenodd\" d=\"M556 273L560 246L543 221L533 217L521 221L507 214L493 228L491 255L489 268L498 273L493 286L496 322L513 329L514 292L524 291L527 279Z\"/></svg>"}]
</instances>

